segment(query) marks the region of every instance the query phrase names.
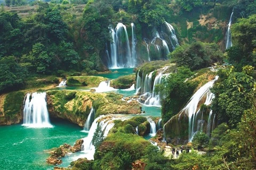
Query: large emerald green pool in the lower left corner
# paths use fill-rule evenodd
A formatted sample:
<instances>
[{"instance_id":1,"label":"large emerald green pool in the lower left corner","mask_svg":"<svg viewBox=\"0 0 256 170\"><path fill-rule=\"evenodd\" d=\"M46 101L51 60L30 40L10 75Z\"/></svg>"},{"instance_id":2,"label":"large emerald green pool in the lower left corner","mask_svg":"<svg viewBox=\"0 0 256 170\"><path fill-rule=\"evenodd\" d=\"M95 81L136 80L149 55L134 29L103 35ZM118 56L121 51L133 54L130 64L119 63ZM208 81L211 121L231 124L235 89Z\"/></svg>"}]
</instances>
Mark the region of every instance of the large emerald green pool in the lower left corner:
<instances>
[{"instance_id":1,"label":"large emerald green pool in the lower left corner","mask_svg":"<svg viewBox=\"0 0 256 170\"><path fill-rule=\"evenodd\" d=\"M21 124L0 126L0 169L53 169L46 164L46 150L63 143L74 145L87 134L77 125L52 123L53 128L25 128Z\"/></svg>"}]
</instances>

